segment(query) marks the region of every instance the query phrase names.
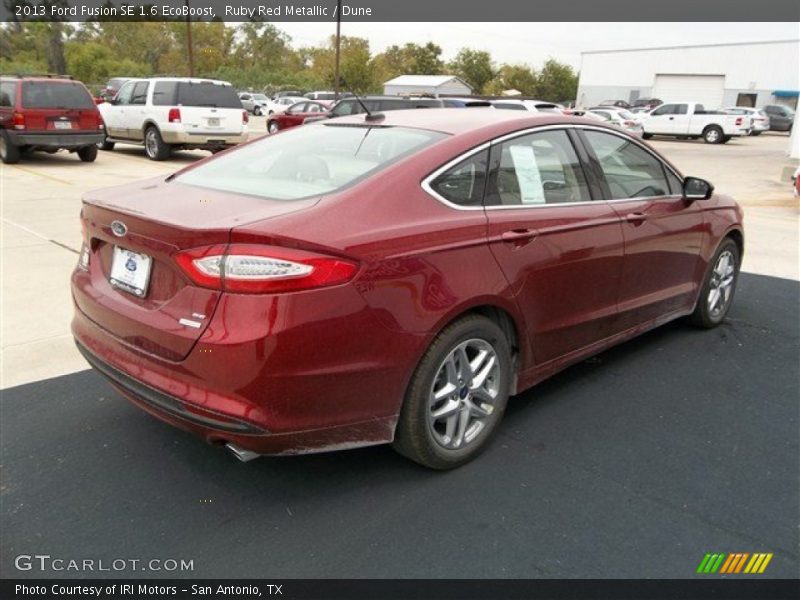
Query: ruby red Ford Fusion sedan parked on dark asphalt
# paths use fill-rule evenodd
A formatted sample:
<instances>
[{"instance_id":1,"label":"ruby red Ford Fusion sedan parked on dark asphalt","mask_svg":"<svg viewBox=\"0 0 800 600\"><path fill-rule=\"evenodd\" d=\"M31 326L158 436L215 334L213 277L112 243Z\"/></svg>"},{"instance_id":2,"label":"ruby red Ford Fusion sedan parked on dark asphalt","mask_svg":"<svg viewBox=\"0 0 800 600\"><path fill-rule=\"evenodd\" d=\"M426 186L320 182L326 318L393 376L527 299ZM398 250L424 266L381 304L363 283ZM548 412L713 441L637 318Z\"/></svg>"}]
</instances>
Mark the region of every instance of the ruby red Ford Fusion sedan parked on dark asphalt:
<instances>
[{"instance_id":1,"label":"ruby red Ford Fusion sedan parked on dark asphalt","mask_svg":"<svg viewBox=\"0 0 800 600\"><path fill-rule=\"evenodd\" d=\"M241 459L483 450L510 395L725 317L742 212L616 128L459 109L326 120L89 193L73 332ZM665 369L668 369L665 366Z\"/></svg>"}]
</instances>

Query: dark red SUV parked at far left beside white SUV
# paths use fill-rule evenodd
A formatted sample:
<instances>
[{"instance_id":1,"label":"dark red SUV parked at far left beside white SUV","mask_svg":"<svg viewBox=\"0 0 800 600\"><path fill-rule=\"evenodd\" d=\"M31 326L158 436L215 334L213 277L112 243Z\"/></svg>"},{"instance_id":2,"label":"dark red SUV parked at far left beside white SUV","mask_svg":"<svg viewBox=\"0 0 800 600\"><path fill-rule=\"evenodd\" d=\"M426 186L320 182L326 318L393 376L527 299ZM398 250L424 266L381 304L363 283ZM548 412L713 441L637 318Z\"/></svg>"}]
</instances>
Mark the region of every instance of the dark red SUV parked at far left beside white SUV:
<instances>
[{"instance_id":1,"label":"dark red SUV parked at far left beside white SUV","mask_svg":"<svg viewBox=\"0 0 800 600\"><path fill-rule=\"evenodd\" d=\"M103 119L80 81L0 77L0 160L5 164L36 150L69 150L83 162L93 162L103 137Z\"/></svg>"}]
</instances>

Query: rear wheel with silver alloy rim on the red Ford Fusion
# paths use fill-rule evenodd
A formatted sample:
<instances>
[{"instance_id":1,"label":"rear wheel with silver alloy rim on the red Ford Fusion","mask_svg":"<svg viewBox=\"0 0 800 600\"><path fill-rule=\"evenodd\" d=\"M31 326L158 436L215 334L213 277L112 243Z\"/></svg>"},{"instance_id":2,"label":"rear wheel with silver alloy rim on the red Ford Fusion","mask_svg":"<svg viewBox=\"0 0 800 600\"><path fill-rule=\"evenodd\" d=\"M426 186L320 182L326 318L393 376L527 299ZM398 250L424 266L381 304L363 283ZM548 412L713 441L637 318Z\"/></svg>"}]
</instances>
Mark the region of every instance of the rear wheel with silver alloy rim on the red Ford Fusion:
<instances>
[{"instance_id":1,"label":"rear wheel with silver alloy rim on the red Ford Fusion","mask_svg":"<svg viewBox=\"0 0 800 600\"><path fill-rule=\"evenodd\" d=\"M486 449L508 402L511 349L494 321L470 315L431 343L408 386L394 449L453 469Z\"/></svg>"}]
</instances>

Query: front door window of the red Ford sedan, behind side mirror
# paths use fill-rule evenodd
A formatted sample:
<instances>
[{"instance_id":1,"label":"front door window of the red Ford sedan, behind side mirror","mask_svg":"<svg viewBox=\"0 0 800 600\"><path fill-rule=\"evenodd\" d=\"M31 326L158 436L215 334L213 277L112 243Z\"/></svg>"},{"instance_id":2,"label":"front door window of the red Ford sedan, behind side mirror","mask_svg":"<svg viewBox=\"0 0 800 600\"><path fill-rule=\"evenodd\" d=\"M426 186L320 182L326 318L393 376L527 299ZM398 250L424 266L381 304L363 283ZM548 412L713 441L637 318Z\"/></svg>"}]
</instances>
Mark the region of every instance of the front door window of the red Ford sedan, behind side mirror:
<instances>
[{"instance_id":1,"label":"front door window of the red Ford sedan, behind side mirror","mask_svg":"<svg viewBox=\"0 0 800 600\"><path fill-rule=\"evenodd\" d=\"M668 196L665 169L660 160L620 135L583 132L603 169L612 200Z\"/></svg>"}]
</instances>

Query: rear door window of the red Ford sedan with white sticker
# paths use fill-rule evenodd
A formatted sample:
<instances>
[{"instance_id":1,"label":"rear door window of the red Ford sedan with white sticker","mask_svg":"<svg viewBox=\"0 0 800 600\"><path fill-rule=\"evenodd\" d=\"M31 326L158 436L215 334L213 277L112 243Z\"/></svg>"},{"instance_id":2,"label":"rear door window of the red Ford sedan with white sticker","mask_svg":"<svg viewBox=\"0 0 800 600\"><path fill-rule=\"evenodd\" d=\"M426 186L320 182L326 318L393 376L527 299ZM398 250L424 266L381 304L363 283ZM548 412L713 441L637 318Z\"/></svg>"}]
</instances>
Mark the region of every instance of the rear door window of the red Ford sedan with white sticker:
<instances>
[{"instance_id":1,"label":"rear door window of the red Ford sedan with white sticker","mask_svg":"<svg viewBox=\"0 0 800 600\"><path fill-rule=\"evenodd\" d=\"M487 205L538 206L592 199L575 148L563 129L496 144L492 163Z\"/></svg>"}]
</instances>

